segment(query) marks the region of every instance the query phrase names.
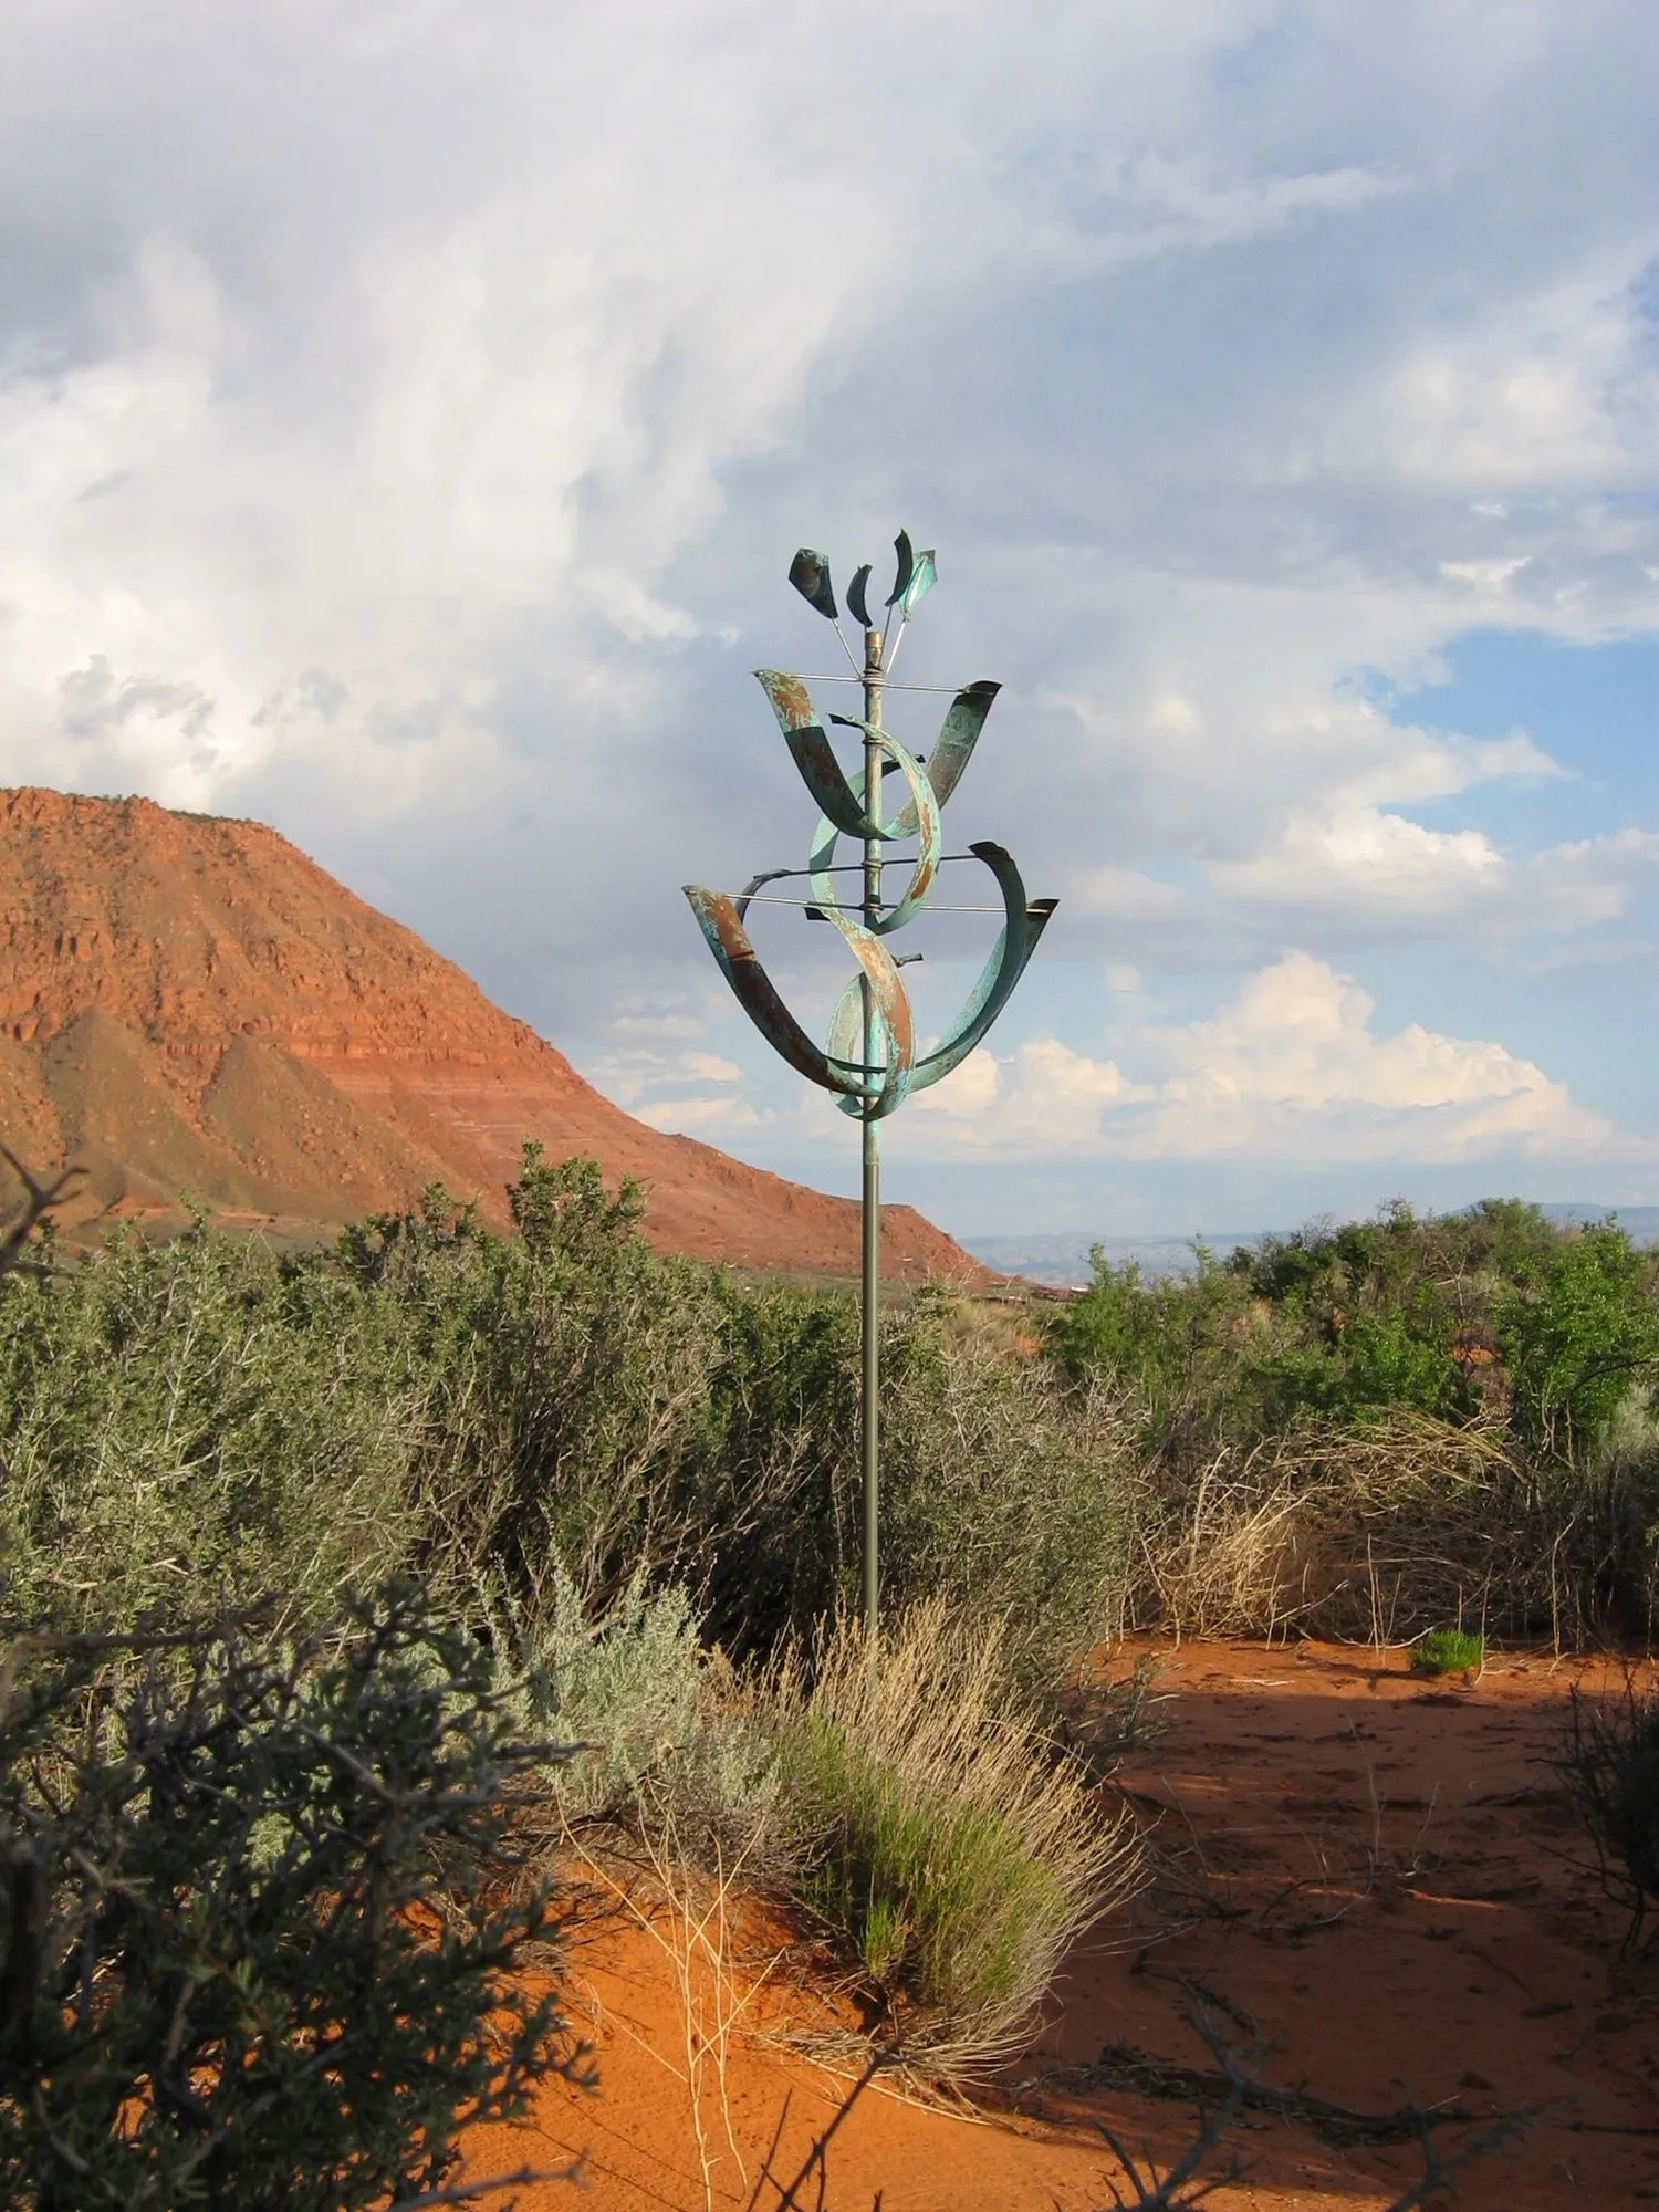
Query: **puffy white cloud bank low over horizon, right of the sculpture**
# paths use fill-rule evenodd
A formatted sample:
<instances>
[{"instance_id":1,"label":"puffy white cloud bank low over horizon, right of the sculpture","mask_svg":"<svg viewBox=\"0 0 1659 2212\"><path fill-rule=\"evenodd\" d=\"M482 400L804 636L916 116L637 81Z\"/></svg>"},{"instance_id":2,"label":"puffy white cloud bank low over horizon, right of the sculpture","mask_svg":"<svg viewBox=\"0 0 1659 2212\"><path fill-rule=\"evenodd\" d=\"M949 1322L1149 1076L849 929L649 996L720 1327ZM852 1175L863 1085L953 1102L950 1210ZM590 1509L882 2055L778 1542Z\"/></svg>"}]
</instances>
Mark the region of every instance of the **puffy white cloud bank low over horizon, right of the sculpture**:
<instances>
[{"instance_id":1,"label":"puffy white cloud bank low over horizon, right of the sculpture","mask_svg":"<svg viewBox=\"0 0 1659 2212\"><path fill-rule=\"evenodd\" d=\"M1298 1161L1648 1161L1659 1146L1577 1106L1502 1044L1374 1026L1374 1000L1287 953L1230 1006L1133 1040L1146 1073L1060 1037L980 1048L914 1110L947 1157Z\"/></svg>"}]
</instances>

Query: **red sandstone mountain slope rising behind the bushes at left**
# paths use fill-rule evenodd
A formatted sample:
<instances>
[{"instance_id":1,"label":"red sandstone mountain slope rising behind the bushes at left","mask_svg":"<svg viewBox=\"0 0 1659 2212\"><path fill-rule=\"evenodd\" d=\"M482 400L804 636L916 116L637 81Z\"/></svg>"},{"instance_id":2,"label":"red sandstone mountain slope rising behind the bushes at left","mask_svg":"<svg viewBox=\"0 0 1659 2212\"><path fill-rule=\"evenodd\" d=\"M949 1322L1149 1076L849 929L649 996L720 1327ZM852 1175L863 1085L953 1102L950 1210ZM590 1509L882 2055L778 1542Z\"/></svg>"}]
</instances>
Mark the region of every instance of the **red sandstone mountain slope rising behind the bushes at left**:
<instances>
[{"instance_id":1,"label":"red sandstone mountain slope rising behind the bushes at left","mask_svg":"<svg viewBox=\"0 0 1659 2212\"><path fill-rule=\"evenodd\" d=\"M338 1223L425 1183L504 1219L524 1137L653 1186L664 1250L852 1274L858 1210L664 1137L263 823L0 792L0 1135L119 1210ZM987 1281L907 1206L896 1274Z\"/></svg>"}]
</instances>

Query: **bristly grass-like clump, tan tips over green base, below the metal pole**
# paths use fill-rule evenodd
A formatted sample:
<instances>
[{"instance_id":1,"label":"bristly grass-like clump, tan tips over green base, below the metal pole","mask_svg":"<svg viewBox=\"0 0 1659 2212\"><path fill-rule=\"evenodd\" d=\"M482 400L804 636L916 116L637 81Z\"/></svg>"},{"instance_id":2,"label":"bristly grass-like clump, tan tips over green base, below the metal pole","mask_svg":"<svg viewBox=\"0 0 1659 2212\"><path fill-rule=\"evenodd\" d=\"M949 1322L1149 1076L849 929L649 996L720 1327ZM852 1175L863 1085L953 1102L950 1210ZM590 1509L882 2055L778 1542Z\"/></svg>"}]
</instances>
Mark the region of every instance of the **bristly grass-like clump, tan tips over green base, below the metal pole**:
<instances>
[{"instance_id":1,"label":"bristly grass-like clump, tan tips over green base, below the metal pole","mask_svg":"<svg viewBox=\"0 0 1659 2212\"><path fill-rule=\"evenodd\" d=\"M998 1624L914 1606L872 1650L843 1621L757 1692L776 1732L801 1891L933 2066L1029 2031L1066 1944L1139 1871L1126 1818L1020 1697Z\"/></svg>"}]
</instances>

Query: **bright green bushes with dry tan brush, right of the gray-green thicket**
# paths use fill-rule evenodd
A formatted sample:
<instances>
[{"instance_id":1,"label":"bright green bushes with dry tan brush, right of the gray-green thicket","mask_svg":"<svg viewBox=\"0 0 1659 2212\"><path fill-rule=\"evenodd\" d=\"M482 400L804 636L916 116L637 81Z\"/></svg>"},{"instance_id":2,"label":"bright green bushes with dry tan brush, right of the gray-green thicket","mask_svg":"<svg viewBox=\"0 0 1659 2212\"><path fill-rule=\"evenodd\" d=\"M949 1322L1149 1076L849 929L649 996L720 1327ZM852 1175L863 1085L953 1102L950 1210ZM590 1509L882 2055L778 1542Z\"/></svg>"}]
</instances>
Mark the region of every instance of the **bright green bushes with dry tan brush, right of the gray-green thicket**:
<instances>
[{"instance_id":1,"label":"bright green bushes with dry tan brush, right of the gray-green thicket","mask_svg":"<svg viewBox=\"0 0 1659 2212\"><path fill-rule=\"evenodd\" d=\"M1186 1283L1097 1265L1046 1329L1137 1449L1128 1615L1582 1639L1659 1610L1652 1252L1517 1201L1267 1237ZM1119 1498L1124 1495L1119 1482Z\"/></svg>"}]
</instances>

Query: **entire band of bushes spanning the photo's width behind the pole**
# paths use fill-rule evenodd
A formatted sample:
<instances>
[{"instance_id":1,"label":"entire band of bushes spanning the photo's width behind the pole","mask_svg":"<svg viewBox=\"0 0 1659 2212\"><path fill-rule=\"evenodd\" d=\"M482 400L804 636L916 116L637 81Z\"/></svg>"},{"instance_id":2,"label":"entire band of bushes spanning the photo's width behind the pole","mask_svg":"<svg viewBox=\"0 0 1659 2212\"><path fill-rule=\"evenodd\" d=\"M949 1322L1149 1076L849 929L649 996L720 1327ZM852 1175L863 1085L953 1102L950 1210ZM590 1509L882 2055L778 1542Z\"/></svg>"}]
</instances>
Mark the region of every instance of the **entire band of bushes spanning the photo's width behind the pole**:
<instances>
[{"instance_id":1,"label":"entire band of bushes spanning the photo's width behind the pole","mask_svg":"<svg viewBox=\"0 0 1659 2212\"><path fill-rule=\"evenodd\" d=\"M281 1590L303 1628L416 1573L531 1635L557 1562L591 1621L637 1575L684 1584L734 1659L852 1604L854 1296L653 1252L639 1190L593 1161L529 1146L511 1203L511 1237L434 1188L332 1252L197 1228L0 1283L13 1601L119 1624ZM1535 1575L1498 1590L1500 1630L1646 1619L1652 1265L1513 1203L1396 1206L1188 1281L1102 1263L1042 1358L922 1292L883 1316L883 1588L1004 1615L1053 1694L1130 1608L1170 1617L1223 1500L1234 1588L1203 1615L1279 1621L1283 1597L1354 1632L1365 1577L1400 1621L1447 1619L1491 1579L1480 1511L1493 1559L1553 1562L1542 1601ZM1455 1433L1504 1471L1480 1502Z\"/></svg>"}]
</instances>

